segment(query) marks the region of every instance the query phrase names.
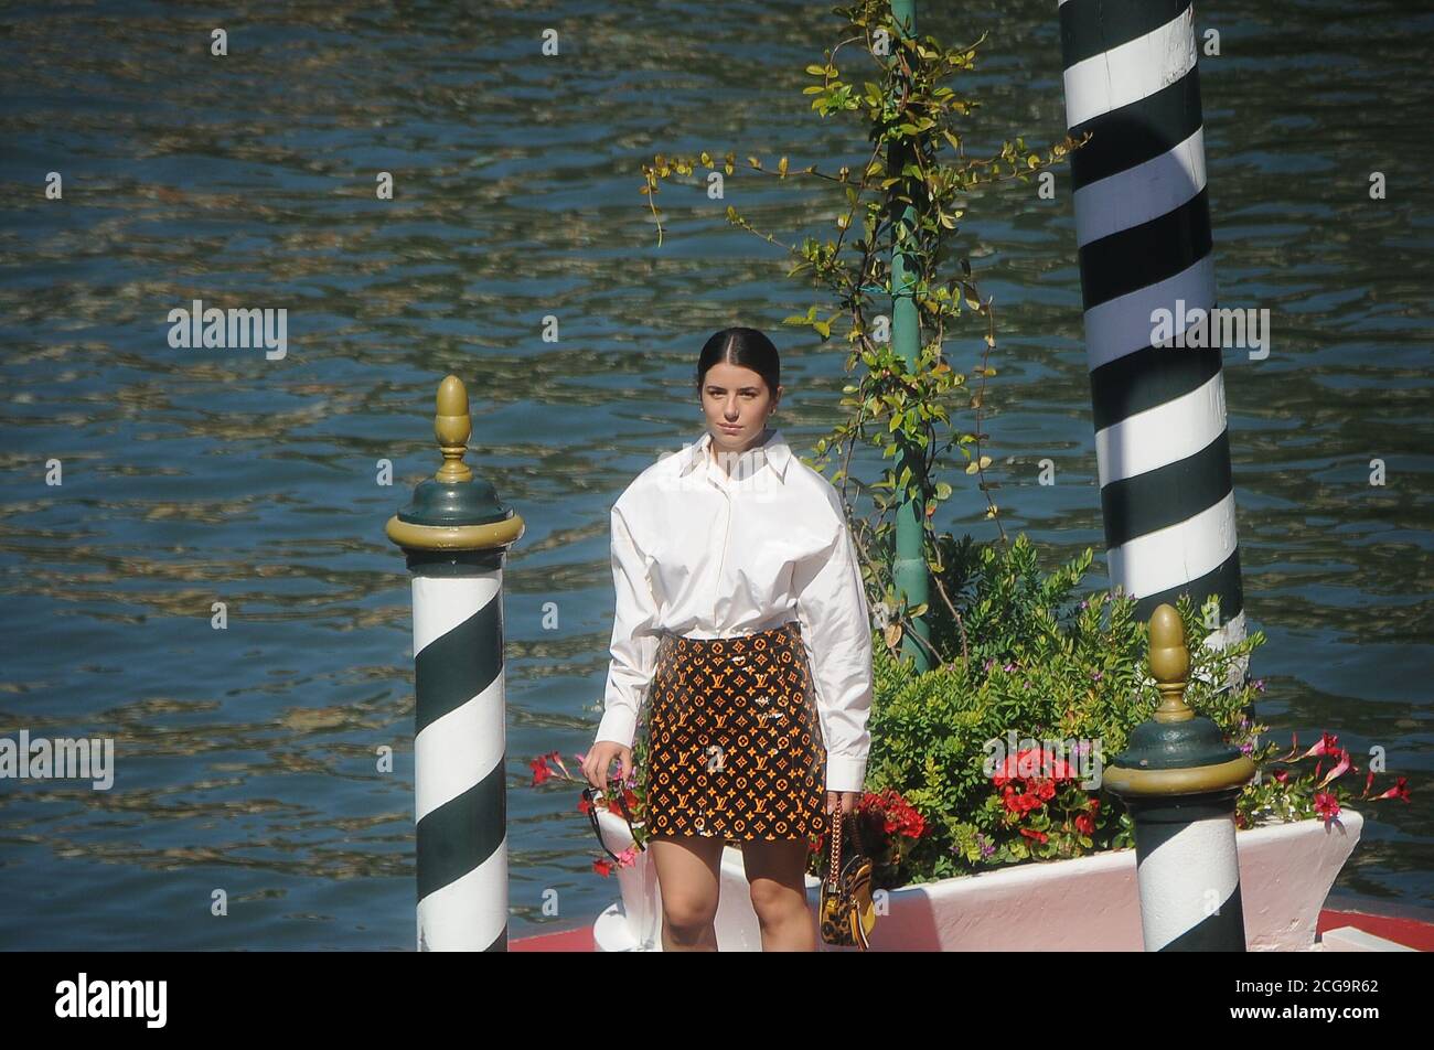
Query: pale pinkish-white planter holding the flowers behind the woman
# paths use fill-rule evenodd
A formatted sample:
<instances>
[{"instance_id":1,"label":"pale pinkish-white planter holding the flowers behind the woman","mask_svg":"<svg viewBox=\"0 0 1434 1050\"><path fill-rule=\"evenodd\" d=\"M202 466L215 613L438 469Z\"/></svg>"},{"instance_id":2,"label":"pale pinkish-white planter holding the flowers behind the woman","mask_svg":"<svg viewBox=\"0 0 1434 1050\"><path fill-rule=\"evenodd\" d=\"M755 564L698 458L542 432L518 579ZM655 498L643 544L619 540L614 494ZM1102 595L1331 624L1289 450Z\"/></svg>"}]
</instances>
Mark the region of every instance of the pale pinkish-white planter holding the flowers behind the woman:
<instances>
[{"instance_id":1,"label":"pale pinkish-white planter holding the flowers behind the woman","mask_svg":"<svg viewBox=\"0 0 1434 1050\"><path fill-rule=\"evenodd\" d=\"M627 823L599 810L612 852L632 843ZM1236 832L1240 901L1250 951L1308 951L1315 922L1364 828L1344 809L1324 820L1298 820ZM617 874L622 899L594 924L598 951L661 951L657 869L647 852ZM807 876L813 921L819 881ZM873 951L1143 951L1136 851L1044 861L901 886L878 898ZM741 851L727 846L717 905L718 951L761 951ZM855 951L829 948L823 951Z\"/></svg>"}]
</instances>

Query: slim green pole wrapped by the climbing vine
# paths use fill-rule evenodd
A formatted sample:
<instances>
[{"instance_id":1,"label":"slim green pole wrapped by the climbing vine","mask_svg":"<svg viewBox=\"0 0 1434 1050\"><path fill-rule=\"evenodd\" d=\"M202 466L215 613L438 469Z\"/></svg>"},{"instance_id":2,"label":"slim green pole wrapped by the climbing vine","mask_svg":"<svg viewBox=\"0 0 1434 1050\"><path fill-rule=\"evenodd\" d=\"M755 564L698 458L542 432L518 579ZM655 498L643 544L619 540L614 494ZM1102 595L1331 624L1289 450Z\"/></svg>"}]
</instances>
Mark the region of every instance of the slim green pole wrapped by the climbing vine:
<instances>
[{"instance_id":1,"label":"slim green pole wrapped by the climbing vine","mask_svg":"<svg viewBox=\"0 0 1434 1050\"><path fill-rule=\"evenodd\" d=\"M916 32L916 0L892 0L892 16L901 26L905 36ZM892 145L886 156L886 171L889 176L899 176L902 169L911 162L912 151L905 145ZM909 283L919 277L909 248L902 245L901 231L915 231L916 204L913 189L918 185L915 178L905 178L892 185L901 188L911 198L912 204L892 201L892 207L899 209L896 221L898 244L892 248L892 349L901 354L909 366L915 366L921 356L921 318L916 314L916 300L912 295ZM902 443L896 453L896 478L901 479L905 468L911 468L912 478L919 478L922 450ZM892 565L892 578L896 584L898 597L905 595L909 607L925 602L931 594L931 581L926 578L926 558L922 552L922 503L918 495L911 499L905 495L896 509L896 564ZM931 637L931 627L925 617L915 620L915 631L921 637ZM926 648L913 638L902 638L902 656L915 661L918 671L929 670L931 660Z\"/></svg>"}]
</instances>

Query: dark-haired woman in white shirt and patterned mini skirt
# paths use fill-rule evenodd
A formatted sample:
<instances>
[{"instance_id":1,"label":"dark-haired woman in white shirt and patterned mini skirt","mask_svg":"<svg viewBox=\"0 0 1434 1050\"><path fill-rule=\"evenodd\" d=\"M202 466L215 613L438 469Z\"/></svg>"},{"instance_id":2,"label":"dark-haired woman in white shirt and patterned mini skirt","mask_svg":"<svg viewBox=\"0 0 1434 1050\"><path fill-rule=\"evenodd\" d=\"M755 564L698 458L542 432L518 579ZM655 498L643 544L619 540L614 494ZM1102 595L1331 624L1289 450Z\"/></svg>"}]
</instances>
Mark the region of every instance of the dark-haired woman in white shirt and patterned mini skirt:
<instances>
[{"instance_id":1,"label":"dark-haired woman in white shirt and patterned mini skirt","mask_svg":"<svg viewBox=\"0 0 1434 1050\"><path fill-rule=\"evenodd\" d=\"M604 790L614 760L628 776L647 699L664 951L717 950L728 841L763 950L815 951L807 836L866 776L866 592L836 491L767 426L782 390L766 336L718 331L697 361L706 433L612 506L612 661L582 772Z\"/></svg>"}]
</instances>

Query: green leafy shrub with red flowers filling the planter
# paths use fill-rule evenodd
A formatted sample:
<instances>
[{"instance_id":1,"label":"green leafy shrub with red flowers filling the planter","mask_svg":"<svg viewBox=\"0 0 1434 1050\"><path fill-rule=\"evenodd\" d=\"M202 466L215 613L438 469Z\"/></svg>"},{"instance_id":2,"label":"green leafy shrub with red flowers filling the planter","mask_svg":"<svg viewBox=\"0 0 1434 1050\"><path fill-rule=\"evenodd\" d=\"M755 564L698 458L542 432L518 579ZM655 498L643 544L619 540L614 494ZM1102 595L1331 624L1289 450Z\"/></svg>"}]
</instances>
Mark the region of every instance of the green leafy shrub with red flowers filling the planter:
<instances>
[{"instance_id":1,"label":"green leafy shrub with red flowers filling the planter","mask_svg":"<svg viewBox=\"0 0 1434 1050\"><path fill-rule=\"evenodd\" d=\"M878 886L1134 845L1124 806L1101 796L1100 769L1150 719L1160 694L1136 601L1119 588L1073 597L1090 561L1087 549L1041 578L1024 535L979 549L967 536L945 551L955 615L931 614L934 647L965 656L916 673L876 645L866 783L899 793L926 828L879 858ZM1196 611L1182 597L1177 611L1190 647L1186 703L1256 763L1236 802L1236 826L1336 819L1351 800L1348 780L1339 780L1355 769L1348 752L1332 736L1298 757L1293 747L1282 755L1260 746L1269 727L1252 716L1265 683L1230 684L1236 661L1263 644L1263 633L1217 650L1199 641L1210 633L1205 624L1217 623L1216 600ZM1326 765L1305 772L1301 763L1315 757ZM1408 798L1402 777L1371 795L1372 776L1361 799Z\"/></svg>"}]
</instances>

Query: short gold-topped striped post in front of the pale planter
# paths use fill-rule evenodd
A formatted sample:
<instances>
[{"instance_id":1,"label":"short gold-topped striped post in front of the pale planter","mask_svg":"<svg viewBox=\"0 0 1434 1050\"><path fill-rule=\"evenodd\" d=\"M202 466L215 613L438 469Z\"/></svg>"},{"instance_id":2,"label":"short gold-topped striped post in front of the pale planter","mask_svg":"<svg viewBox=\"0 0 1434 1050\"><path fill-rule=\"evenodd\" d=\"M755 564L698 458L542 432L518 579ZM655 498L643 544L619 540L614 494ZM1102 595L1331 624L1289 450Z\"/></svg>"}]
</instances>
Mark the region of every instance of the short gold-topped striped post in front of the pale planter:
<instances>
[{"instance_id":1,"label":"short gold-topped striped post in front of the pale planter","mask_svg":"<svg viewBox=\"0 0 1434 1050\"><path fill-rule=\"evenodd\" d=\"M1184 703L1190 651L1173 605L1150 617L1160 707L1103 772L1136 825L1146 951L1245 951L1235 802L1255 763Z\"/></svg>"}]
</instances>

